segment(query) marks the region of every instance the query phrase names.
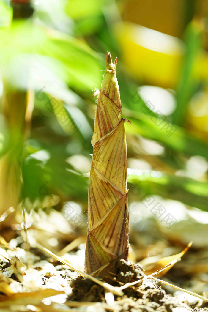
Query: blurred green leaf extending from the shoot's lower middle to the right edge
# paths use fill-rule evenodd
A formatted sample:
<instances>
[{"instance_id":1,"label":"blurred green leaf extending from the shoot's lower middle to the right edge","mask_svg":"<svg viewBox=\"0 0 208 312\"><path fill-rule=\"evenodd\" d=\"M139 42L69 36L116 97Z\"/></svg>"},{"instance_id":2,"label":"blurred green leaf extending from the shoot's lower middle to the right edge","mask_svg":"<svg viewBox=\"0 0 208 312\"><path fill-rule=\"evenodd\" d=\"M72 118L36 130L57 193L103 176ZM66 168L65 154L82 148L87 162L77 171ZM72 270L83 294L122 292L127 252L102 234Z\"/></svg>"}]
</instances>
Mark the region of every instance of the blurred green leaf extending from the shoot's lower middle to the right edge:
<instances>
[{"instance_id":1,"label":"blurred green leaf extending from the shoot's lower middle to the right edge","mask_svg":"<svg viewBox=\"0 0 208 312\"><path fill-rule=\"evenodd\" d=\"M140 170L139 175L134 174L133 171L132 169L128 171L131 174L128 176L127 182L132 184L128 184L129 195L131 195L132 189L134 196L138 194L139 198L137 197L137 199L151 193L208 211L208 183L173 176L160 171L145 170L145 172L142 172ZM135 189L135 186L137 189Z\"/></svg>"}]
</instances>

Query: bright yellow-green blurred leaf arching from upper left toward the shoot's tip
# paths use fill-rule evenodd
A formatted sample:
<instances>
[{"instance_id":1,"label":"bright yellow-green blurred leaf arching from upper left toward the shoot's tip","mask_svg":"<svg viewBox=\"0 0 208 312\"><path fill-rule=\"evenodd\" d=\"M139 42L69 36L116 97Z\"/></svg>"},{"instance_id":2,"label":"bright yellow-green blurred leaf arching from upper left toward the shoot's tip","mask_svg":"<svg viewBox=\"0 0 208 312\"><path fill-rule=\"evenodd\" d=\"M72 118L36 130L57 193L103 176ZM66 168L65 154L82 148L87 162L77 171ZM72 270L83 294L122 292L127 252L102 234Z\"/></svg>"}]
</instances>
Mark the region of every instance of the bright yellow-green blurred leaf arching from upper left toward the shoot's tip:
<instances>
[{"instance_id":1,"label":"bright yellow-green blurred leaf arching from upper left toward the shoot's tip","mask_svg":"<svg viewBox=\"0 0 208 312\"><path fill-rule=\"evenodd\" d=\"M85 43L58 31L47 31L30 20L14 21L9 29L0 29L0 64L17 54L50 56L58 62L65 82L77 91L92 92L101 83L100 56ZM21 67L21 62L18 64ZM59 73L60 74L60 73Z\"/></svg>"}]
</instances>

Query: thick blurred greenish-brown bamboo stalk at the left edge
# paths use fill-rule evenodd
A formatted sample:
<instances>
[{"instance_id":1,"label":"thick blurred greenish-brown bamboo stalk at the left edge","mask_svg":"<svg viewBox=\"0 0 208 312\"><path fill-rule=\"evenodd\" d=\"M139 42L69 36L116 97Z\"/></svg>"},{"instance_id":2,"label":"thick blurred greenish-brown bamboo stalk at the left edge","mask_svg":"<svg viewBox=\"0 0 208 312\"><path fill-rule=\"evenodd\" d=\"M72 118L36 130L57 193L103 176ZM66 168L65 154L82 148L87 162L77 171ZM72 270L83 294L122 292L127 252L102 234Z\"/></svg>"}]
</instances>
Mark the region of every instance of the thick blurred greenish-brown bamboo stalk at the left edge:
<instances>
[{"instance_id":1,"label":"thick blurred greenish-brown bamboo stalk at the left edge","mask_svg":"<svg viewBox=\"0 0 208 312\"><path fill-rule=\"evenodd\" d=\"M22 188L22 154L30 132L33 91L14 90L4 80L2 96L3 150L0 155L0 215L16 208Z\"/></svg>"}]
</instances>

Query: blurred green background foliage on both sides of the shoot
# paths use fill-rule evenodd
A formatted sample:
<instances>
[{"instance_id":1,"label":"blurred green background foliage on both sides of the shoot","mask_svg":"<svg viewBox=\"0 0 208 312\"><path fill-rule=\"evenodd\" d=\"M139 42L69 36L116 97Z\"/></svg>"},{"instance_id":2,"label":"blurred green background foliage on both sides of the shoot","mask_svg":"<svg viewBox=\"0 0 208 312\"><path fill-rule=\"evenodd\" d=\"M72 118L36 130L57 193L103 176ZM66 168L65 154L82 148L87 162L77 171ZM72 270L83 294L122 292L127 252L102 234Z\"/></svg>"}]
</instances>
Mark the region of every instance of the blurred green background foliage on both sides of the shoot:
<instances>
[{"instance_id":1,"label":"blurred green background foliage on both sides of the shoot","mask_svg":"<svg viewBox=\"0 0 208 312\"><path fill-rule=\"evenodd\" d=\"M157 125L161 118L157 112L153 122L153 113L145 101L140 97L136 103L132 100L139 86L148 81L132 78L120 60L120 46L112 31L114 22L121 18L116 2L36 1L33 6L33 17L11 22L12 7L0 2L2 78L11 90L35 93L31 134L26 138L22 158L22 198L33 201L41 197L39 190L47 183L49 193L58 194L62 201L81 201L87 206L88 178L83 176L79 169L82 166L76 160L71 163L68 159L82 155L91 161L95 114L92 90L101 84L106 50L110 50L111 55L118 56L123 115L132 123L126 123L129 155L146 159L148 154L152 170L167 171L159 179L130 175L129 187L137 185L139 179L143 193L159 194L208 211L207 174L198 181L194 176L175 176L178 170L185 170L192 155L208 160L207 134L190 130L186 118L191 97L207 87L207 77L203 80L200 75L197 78L193 75L195 59L203 48L203 27L191 22L185 30L186 52L174 90L177 105L166 116L175 129L169 135L167 129ZM147 112L141 107L146 107ZM1 125L5 142L7 126ZM156 141L164 152L161 155L141 152L141 137Z\"/></svg>"}]
</instances>

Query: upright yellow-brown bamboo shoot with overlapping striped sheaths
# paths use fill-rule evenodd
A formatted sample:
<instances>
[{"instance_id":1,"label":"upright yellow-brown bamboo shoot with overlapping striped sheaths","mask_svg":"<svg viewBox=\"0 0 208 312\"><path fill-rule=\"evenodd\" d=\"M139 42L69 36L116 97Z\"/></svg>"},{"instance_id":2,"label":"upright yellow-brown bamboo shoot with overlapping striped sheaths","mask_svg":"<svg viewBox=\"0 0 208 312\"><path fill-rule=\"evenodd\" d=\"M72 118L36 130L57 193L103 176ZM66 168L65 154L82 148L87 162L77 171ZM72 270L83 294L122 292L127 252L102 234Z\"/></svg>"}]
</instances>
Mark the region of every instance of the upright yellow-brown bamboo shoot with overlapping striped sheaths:
<instances>
[{"instance_id":1,"label":"upright yellow-brown bamboo shoot with overlapping striped sheaths","mask_svg":"<svg viewBox=\"0 0 208 312\"><path fill-rule=\"evenodd\" d=\"M128 261L126 119L121 114L116 64L117 58L113 63L107 51L101 88L94 93L98 102L91 141L85 272L100 277L113 273L120 259Z\"/></svg>"}]
</instances>

